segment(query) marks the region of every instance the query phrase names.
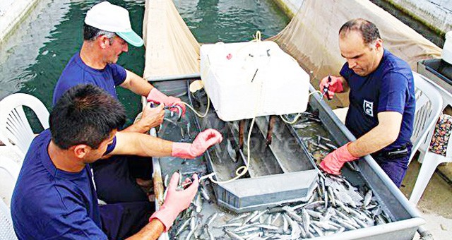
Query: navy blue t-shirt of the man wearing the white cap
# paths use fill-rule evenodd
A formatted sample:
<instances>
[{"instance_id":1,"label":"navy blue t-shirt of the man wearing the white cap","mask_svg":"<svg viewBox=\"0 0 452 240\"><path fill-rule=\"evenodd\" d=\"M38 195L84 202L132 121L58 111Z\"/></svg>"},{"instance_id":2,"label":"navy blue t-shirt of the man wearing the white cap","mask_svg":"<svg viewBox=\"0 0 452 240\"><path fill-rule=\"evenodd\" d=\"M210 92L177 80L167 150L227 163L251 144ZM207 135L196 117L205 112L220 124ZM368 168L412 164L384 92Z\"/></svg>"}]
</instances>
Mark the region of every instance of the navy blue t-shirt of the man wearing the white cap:
<instances>
[{"instance_id":1,"label":"navy blue t-shirt of the man wearing the white cap","mask_svg":"<svg viewBox=\"0 0 452 240\"><path fill-rule=\"evenodd\" d=\"M83 63L80 53L76 53L69 60L55 85L53 104L57 104L59 98L69 88L79 84L95 85L118 99L116 86L124 83L124 80L126 80L126 69L122 66L107 64L104 69L98 70Z\"/></svg>"}]
</instances>

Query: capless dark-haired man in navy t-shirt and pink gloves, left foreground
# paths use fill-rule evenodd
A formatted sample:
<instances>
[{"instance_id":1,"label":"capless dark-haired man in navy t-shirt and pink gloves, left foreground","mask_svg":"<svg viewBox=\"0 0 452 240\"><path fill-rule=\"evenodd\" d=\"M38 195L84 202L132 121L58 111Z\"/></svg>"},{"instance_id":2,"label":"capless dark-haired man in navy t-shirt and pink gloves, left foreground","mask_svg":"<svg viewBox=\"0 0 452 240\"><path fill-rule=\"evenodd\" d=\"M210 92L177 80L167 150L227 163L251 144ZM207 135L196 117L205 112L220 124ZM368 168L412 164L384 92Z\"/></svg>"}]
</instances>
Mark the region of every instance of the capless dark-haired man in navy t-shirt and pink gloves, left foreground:
<instances>
[{"instance_id":1,"label":"capless dark-haired man in navy t-shirt and pink gloves, left foreground","mask_svg":"<svg viewBox=\"0 0 452 240\"><path fill-rule=\"evenodd\" d=\"M193 200L198 181L176 191L179 174L173 174L165 204L149 218L148 200L99 206L90 163L117 154L193 158L219 143L221 135L207 129L194 143L172 143L118 132L124 121L124 107L93 85L78 85L61 96L50 114L50 128L32 141L13 191L11 215L19 239L124 239L133 234L157 239L172 226Z\"/></svg>"}]
</instances>

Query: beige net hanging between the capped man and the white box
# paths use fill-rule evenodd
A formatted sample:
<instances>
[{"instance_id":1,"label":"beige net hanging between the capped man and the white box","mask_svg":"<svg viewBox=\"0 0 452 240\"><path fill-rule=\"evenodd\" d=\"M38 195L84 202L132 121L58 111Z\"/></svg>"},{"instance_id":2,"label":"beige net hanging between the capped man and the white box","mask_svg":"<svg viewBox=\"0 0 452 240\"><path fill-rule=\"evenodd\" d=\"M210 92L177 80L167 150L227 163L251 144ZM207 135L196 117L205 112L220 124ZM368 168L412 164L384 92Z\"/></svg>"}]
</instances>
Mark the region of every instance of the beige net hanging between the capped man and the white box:
<instances>
[{"instance_id":1,"label":"beige net hanging between the capped man and the white box","mask_svg":"<svg viewBox=\"0 0 452 240\"><path fill-rule=\"evenodd\" d=\"M199 43L171 0L146 0L143 39L145 79L199 73Z\"/></svg>"}]
</instances>

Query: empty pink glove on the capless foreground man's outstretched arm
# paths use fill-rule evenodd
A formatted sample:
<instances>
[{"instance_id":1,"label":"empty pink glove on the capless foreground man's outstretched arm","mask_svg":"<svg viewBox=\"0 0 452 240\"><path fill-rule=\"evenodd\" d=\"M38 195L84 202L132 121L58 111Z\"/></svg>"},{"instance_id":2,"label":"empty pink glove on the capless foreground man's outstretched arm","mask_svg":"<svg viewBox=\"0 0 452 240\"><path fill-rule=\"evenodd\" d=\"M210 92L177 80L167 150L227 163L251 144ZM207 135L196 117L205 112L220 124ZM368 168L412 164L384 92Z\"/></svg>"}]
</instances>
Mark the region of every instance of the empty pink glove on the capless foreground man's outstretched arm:
<instances>
[{"instance_id":1,"label":"empty pink glove on the capless foreground man's outstretched arm","mask_svg":"<svg viewBox=\"0 0 452 240\"><path fill-rule=\"evenodd\" d=\"M223 137L215 129L208 128L196 136L193 143L172 143L172 157L190 158L201 156L214 144L221 143Z\"/></svg>"}]
</instances>

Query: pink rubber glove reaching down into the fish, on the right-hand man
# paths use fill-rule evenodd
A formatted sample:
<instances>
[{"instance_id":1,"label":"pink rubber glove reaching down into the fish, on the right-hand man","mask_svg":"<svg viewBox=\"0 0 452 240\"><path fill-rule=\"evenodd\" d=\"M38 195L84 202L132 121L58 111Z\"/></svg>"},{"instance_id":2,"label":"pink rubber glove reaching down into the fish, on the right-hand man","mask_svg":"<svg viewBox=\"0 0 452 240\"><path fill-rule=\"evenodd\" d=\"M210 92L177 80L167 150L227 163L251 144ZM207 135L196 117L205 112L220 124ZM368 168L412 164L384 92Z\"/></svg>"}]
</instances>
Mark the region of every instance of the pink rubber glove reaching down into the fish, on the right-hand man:
<instances>
[{"instance_id":1,"label":"pink rubber glove reaching down into the fish, on the right-hand man","mask_svg":"<svg viewBox=\"0 0 452 240\"><path fill-rule=\"evenodd\" d=\"M323 171L325 172L328 172L328 174L339 175L340 169L345 164L345 162L357 160L358 158L354 157L348 151L348 145L350 143L352 142L349 142L326 155L326 157L323 158L322 162L320 163L321 169L323 169Z\"/></svg>"}]
</instances>

